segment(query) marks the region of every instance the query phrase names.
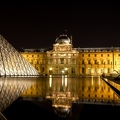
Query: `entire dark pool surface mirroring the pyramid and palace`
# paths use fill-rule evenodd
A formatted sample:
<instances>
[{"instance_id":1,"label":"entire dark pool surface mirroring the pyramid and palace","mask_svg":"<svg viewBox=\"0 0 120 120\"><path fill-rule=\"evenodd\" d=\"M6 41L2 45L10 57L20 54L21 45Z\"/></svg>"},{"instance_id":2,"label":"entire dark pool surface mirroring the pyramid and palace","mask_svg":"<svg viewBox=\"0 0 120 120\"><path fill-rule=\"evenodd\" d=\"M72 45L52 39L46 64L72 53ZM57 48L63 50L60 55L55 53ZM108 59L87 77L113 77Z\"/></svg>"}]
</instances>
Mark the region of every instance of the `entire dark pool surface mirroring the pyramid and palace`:
<instances>
[{"instance_id":1,"label":"entire dark pool surface mirroring the pyramid and palace","mask_svg":"<svg viewBox=\"0 0 120 120\"><path fill-rule=\"evenodd\" d=\"M8 120L92 120L119 117L120 99L99 77L51 76L6 78L5 81L2 78L0 82L0 97L4 99L0 106L6 104L6 107L1 107L4 108L1 112ZM120 88L119 85L115 86Z\"/></svg>"}]
</instances>

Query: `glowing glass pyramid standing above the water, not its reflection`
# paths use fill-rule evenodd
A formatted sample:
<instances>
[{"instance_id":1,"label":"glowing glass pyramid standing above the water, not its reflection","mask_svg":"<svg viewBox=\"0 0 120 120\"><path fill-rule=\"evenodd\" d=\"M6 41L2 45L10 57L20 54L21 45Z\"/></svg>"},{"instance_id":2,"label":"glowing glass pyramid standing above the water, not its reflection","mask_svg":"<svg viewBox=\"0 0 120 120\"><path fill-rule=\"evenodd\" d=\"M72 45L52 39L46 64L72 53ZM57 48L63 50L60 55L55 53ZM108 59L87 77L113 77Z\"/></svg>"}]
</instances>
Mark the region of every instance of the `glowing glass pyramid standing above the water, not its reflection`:
<instances>
[{"instance_id":1,"label":"glowing glass pyramid standing above the water, not its reflection","mask_svg":"<svg viewBox=\"0 0 120 120\"><path fill-rule=\"evenodd\" d=\"M0 35L0 75L39 75L38 71Z\"/></svg>"}]
</instances>

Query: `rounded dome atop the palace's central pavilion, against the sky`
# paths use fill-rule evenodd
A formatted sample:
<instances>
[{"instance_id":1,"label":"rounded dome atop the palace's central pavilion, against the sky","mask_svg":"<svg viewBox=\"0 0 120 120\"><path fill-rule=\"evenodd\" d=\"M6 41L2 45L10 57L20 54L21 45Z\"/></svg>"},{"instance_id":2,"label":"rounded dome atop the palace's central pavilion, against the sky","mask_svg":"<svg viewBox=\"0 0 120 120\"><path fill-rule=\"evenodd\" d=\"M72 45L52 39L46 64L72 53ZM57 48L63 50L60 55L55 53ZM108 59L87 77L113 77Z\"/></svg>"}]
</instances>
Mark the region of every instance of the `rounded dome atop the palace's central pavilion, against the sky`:
<instances>
[{"instance_id":1,"label":"rounded dome atop the palace's central pavilion, against the sky","mask_svg":"<svg viewBox=\"0 0 120 120\"><path fill-rule=\"evenodd\" d=\"M60 35L56 40L56 43L60 44L69 44L70 43L70 38L67 35Z\"/></svg>"}]
</instances>

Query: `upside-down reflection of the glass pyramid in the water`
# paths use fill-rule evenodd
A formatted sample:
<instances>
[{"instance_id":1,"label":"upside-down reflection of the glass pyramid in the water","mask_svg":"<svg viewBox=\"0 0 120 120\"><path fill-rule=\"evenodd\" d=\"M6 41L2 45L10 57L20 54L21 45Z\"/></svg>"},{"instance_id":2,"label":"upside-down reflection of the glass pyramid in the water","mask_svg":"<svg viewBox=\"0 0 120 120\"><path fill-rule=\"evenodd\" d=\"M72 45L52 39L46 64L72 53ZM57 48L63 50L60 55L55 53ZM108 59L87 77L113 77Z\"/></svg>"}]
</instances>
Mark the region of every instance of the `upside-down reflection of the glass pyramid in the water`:
<instances>
[{"instance_id":1,"label":"upside-down reflection of the glass pyramid in the water","mask_svg":"<svg viewBox=\"0 0 120 120\"><path fill-rule=\"evenodd\" d=\"M37 77L1 77L0 112L7 109L23 92L36 84L36 79Z\"/></svg>"}]
</instances>

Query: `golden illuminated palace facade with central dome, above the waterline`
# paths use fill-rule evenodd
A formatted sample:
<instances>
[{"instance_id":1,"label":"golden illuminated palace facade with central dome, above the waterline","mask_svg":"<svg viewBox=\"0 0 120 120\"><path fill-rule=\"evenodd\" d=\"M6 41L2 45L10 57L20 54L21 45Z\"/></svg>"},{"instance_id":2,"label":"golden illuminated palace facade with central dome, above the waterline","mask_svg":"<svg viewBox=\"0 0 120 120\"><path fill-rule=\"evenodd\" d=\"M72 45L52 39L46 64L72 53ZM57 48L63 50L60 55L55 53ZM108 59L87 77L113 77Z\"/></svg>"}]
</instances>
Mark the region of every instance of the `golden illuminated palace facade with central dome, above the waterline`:
<instances>
[{"instance_id":1,"label":"golden illuminated palace facade with central dome, above the waterline","mask_svg":"<svg viewBox=\"0 0 120 120\"><path fill-rule=\"evenodd\" d=\"M56 38L51 49L23 49L21 55L40 74L99 76L120 71L120 47L73 48L72 36Z\"/></svg>"}]
</instances>

